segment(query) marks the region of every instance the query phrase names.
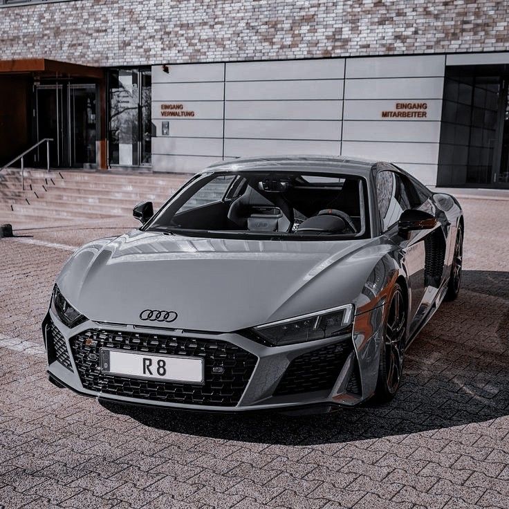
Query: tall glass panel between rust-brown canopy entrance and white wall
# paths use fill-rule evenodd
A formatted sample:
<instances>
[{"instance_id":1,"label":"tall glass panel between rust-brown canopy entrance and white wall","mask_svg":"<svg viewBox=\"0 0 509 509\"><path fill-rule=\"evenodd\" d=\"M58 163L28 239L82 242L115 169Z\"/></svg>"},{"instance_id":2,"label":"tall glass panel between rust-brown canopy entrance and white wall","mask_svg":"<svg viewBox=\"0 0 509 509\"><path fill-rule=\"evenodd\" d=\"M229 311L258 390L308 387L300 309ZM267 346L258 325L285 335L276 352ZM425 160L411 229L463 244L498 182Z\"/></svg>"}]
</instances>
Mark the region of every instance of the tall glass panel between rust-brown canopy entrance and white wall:
<instances>
[{"instance_id":1,"label":"tall glass panel between rust-brown canopy entrance and white wall","mask_svg":"<svg viewBox=\"0 0 509 509\"><path fill-rule=\"evenodd\" d=\"M119 69L109 75L109 164L151 164L151 71Z\"/></svg>"}]
</instances>

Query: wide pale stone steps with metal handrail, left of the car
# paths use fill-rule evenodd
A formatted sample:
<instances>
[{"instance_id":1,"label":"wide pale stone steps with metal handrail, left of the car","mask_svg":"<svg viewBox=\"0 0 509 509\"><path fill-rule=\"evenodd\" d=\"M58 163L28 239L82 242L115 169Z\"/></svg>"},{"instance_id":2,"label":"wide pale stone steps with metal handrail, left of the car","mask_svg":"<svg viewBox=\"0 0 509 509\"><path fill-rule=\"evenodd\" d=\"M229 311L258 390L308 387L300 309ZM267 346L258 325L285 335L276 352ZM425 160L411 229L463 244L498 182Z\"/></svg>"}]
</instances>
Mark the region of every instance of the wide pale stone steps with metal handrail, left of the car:
<instances>
[{"instance_id":1,"label":"wide pale stone steps with metal handrail, left of the car","mask_svg":"<svg viewBox=\"0 0 509 509\"><path fill-rule=\"evenodd\" d=\"M0 224L27 230L128 220L136 203L152 201L158 210L188 178L185 174L26 169L23 191L21 171L8 168L0 173Z\"/></svg>"}]
</instances>

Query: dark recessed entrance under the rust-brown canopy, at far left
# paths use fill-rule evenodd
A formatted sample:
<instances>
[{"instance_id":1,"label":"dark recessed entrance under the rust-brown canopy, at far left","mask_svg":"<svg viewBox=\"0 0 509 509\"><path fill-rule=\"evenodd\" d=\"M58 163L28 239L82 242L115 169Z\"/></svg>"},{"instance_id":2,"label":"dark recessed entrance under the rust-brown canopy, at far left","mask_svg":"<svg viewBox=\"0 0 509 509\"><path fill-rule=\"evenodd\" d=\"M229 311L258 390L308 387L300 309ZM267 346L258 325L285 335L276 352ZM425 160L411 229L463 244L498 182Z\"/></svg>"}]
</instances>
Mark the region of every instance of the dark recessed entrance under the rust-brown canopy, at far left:
<instances>
[{"instance_id":1,"label":"dark recessed entrance under the rust-brown canopy, at far left","mask_svg":"<svg viewBox=\"0 0 509 509\"><path fill-rule=\"evenodd\" d=\"M98 67L46 58L0 59L0 166L50 138L53 167L104 168L105 83ZM31 151L27 164L39 166L43 152Z\"/></svg>"}]
</instances>

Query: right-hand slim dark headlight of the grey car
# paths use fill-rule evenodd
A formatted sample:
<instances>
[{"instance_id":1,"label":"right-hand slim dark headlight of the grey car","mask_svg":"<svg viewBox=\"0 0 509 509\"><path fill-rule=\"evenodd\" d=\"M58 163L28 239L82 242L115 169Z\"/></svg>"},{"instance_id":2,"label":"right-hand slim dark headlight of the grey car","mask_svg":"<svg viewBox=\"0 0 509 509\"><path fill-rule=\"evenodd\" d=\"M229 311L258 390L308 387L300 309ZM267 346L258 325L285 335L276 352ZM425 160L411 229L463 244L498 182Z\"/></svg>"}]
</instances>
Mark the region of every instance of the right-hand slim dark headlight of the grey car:
<instances>
[{"instance_id":1,"label":"right-hand slim dark headlight of the grey car","mask_svg":"<svg viewBox=\"0 0 509 509\"><path fill-rule=\"evenodd\" d=\"M324 340L347 333L353 321L353 305L326 309L317 313L279 320L252 328L252 331L273 346Z\"/></svg>"}]
</instances>

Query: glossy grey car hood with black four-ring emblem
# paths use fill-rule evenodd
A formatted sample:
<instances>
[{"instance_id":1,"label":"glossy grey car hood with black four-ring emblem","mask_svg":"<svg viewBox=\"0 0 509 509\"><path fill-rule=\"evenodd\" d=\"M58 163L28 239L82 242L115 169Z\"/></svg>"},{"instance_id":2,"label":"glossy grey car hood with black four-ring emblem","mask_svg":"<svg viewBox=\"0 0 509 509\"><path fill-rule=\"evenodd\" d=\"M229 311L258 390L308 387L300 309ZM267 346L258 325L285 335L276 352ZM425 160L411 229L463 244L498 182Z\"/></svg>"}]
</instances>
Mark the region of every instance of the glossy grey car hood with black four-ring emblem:
<instances>
[{"instance_id":1,"label":"glossy grey car hood with black four-ring emblem","mask_svg":"<svg viewBox=\"0 0 509 509\"><path fill-rule=\"evenodd\" d=\"M86 244L57 285L98 322L149 325L145 309L175 311L172 328L231 332L355 303L380 258L376 240L210 239L134 230ZM160 325L160 324L154 324Z\"/></svg>"}]
</instances>

